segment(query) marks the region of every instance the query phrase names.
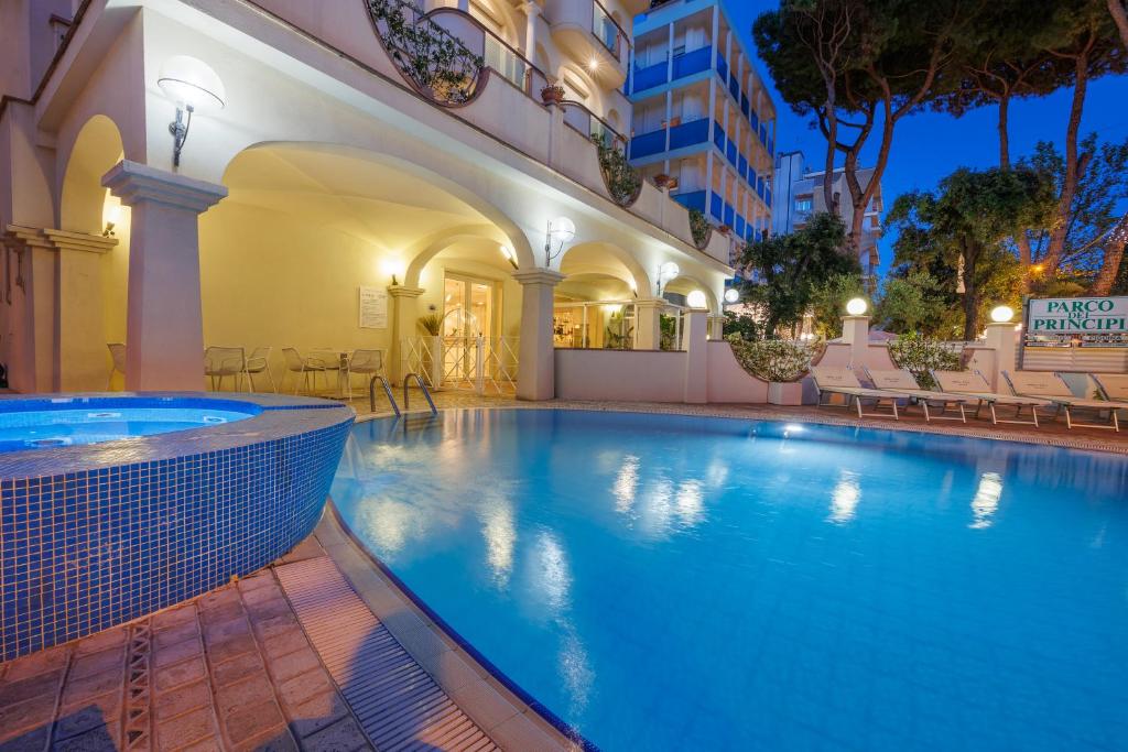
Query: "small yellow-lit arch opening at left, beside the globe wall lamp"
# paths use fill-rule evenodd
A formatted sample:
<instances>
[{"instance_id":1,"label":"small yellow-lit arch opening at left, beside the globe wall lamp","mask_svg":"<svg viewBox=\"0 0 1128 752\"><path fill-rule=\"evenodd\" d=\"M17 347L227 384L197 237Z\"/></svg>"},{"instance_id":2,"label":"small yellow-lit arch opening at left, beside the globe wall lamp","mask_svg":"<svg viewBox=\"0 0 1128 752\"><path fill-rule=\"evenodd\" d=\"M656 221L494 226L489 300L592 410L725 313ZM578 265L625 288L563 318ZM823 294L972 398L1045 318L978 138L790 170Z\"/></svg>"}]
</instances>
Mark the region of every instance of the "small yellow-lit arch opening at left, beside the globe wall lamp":
<instances>
[{"instance_id":1,"label":"small yellow-lit arch opening at left, beside the globe wall lamp","mask_svg":"<svg viewBox=\"0 0 1128 752\"><path fill-rule=\"evenodd\" d=\"M106 115L94 115L79 130L67 157L59 201L59 228L100 235L108 191L102 176L124 154L117 124Z\"/></svg>"}]
</instances>

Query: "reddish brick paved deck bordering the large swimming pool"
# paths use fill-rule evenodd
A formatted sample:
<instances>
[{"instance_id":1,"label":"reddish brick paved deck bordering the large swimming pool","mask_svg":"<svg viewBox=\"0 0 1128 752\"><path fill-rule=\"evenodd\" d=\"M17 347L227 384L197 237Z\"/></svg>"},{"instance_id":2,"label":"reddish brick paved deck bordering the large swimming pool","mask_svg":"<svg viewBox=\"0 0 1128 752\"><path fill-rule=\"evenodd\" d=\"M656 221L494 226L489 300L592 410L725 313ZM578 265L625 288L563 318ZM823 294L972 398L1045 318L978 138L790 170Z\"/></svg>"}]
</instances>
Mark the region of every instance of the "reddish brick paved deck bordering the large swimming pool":
<instances>
[{"instance_id":1,"label":"reddish brick paved deck bordering the large swimming pool","mask_svg":"<svg viewBox=\"0 0 1128 752\"><path fill-rule=\"evenodd\" d=\"M414 401L414 400L413 400ZM420 399L417 404L422 402ZM836 408L519 402L439 392L441 409L566 408L783 419L1128 453L1128 432L858 421ZM354 408L368 414L361 400ZM412 414L415 414L413 410ZM566 750L576 745L435 625L340 527L249 577L0 664L0 752Z\"/></svg>"}]
</instances>

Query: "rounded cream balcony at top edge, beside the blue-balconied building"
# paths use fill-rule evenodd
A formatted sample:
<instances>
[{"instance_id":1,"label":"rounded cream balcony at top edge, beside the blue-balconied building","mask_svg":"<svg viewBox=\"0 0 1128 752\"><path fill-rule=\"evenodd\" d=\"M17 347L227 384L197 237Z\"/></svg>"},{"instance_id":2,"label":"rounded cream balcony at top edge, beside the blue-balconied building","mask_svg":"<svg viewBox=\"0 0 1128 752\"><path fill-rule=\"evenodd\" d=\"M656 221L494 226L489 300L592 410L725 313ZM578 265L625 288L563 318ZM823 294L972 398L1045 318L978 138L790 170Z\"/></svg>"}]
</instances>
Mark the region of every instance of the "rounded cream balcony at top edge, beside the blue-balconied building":
<instances>
[{"instance_id":1,"label":"rounded cream balcony at top edge, beside the blue-balconied building","mask_svg":"<svg viewBox=\"0 0 1128 752\"><path fill-rule=\"evenodd\" d=\"M545 18L561 50L588 68L600 85L623 86L631 37L599 0L548 0Z\"/></svg>"}]
</instances>

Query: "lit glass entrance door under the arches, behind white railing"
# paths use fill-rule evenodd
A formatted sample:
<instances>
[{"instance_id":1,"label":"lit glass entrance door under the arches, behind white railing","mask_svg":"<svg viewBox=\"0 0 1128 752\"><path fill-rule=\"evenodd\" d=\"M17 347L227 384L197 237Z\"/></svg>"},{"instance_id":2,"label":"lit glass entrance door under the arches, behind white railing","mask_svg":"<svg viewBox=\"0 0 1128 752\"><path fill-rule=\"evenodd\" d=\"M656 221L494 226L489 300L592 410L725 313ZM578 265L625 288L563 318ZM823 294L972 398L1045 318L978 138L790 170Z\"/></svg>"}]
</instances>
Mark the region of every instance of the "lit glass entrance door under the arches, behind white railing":
<instances>
[{"instance_id":1,"label":"lit glass entrance door under the arches, behind white railing","mask_svg":"<svg viewBox=\"0 0 1128 752\"><path fill-rule=\"evenodd\" d=\"M443 280L443 361L444 381L473 381L477 359L477 338L486 339L494 330L494 283L448 274Z\"/></svg>"}]
</instances>

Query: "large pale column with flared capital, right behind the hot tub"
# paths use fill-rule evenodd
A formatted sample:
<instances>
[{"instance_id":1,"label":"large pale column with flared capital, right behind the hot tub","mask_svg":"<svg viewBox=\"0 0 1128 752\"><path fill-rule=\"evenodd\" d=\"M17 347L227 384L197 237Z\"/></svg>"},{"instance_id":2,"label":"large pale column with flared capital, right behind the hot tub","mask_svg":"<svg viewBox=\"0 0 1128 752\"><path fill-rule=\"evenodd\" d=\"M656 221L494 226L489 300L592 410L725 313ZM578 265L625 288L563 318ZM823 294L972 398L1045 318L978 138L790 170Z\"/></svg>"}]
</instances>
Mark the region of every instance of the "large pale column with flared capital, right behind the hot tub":
<instances>
[{"instance_id":1,"label":"large pale column with flared capital, right behind the hot tub","mask_svg":"<svg viewBox=\"0 0 1128 752\"><path fill-rule=\"evenodd\" d=\"M227 196L227 188L127 160L102 184L133 211L125 388L199 391L200 214Z\"/></svg>"}]
</instances>

